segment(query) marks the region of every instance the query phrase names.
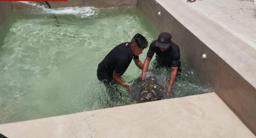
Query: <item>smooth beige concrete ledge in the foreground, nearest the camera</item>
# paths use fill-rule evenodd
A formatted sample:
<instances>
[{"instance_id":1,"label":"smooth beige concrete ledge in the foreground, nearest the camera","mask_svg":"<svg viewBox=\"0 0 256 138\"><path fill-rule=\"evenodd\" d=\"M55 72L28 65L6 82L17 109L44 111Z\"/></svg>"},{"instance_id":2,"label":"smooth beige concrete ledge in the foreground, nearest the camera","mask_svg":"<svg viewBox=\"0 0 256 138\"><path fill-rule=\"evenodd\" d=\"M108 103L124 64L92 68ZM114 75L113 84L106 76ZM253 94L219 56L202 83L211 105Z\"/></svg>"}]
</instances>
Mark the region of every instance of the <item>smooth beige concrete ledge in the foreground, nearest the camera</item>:
<instances>
[{"instance_id":1,"label":"smooth beige concrete ledge in the foreground, nearest the camera","mask_svg":"<svg viewBox=\"0 0 256 138\"><path fill-rule=\"evenodd\" d=\"M1 124L10 138L255 138L215 93Z\"/></svg>"}]
</instances>

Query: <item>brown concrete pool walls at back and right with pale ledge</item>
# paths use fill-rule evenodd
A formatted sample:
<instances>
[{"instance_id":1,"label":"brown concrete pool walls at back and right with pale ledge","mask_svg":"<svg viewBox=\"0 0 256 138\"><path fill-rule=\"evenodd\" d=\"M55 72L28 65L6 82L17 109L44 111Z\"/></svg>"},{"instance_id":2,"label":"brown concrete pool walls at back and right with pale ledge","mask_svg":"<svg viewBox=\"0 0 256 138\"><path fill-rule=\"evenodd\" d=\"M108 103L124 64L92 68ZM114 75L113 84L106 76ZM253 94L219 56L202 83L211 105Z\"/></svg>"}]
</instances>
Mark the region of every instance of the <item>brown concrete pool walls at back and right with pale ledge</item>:
<instances>
[{"instance_id":1,"label":"brown concrete pool walls at back and right with pale ledge","mask_svg":"<svg viewBox=\"0 0 256 138\"><path fill-rule=\"evenodd\" d=\"M44 2L39 2L44 4ZM192 11L181 0L76 0L49 2L53 8L94 6L96 8L137 5L151 19L159 32L168 31L181 49L182 58L202 83L210 83L215 93L256 134L256 56L249 45L237 39L220 25ZM185 2L186 3L186 2ZM45 4L44 4L45 5ZM11 10L30 6L0 2L0 26ZM161 12L158 15L158 12ZM1 32L0 32L1 33ZM242 51L237 54L237 51ZM207 58L202 59L202 54ZM254 73L254 74L253 74ZM218 115L216 113L216 115Z\"/></svg>"}]
</instances>

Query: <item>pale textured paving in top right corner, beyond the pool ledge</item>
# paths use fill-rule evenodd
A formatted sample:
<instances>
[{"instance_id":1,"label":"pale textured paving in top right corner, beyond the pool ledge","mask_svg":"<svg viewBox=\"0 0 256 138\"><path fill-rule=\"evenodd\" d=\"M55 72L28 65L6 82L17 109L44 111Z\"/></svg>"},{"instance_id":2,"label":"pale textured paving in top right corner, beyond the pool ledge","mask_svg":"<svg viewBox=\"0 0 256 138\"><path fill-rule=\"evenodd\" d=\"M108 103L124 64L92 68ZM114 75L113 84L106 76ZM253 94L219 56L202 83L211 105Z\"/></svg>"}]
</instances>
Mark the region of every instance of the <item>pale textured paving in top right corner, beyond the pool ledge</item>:
<instances>
[{"instance_id":1,"label":"pale textured paving in top right corner, beyond the pool ledge","mask_svg":"<svg viewBox=\"0 0 256 138\"><path fill-rule=\"evenodd\" d=\"M197 0L187 4L256 50L256 0Z\"/></svg>"}]
</instances>

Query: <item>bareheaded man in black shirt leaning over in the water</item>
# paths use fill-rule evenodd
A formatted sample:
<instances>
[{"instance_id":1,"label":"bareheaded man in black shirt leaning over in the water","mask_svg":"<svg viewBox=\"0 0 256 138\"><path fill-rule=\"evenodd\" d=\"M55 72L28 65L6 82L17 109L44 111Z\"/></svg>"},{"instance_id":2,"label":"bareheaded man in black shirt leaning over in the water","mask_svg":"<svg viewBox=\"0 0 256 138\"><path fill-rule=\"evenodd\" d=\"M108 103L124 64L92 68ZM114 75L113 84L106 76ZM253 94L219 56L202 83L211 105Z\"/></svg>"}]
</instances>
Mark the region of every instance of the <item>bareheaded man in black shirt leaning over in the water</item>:
<instances>
[{"instance_id":1,"label":"bareheaded man in black shirt leaning over in the water","mask_svg":"<svg viewBox=\"0 0 256 138\"><path fill-rule=\"evenodd\" d=\"M126 84L120 76L124 74L132 59L138 68L143 68L139 55L147 46L148 41L141 34L136 34L131 43L126 42L115 46L99 63L97 69L98 79L106 86L114 79L115 82L132 91L132 87Z\"/></svg>"}]
</instances>

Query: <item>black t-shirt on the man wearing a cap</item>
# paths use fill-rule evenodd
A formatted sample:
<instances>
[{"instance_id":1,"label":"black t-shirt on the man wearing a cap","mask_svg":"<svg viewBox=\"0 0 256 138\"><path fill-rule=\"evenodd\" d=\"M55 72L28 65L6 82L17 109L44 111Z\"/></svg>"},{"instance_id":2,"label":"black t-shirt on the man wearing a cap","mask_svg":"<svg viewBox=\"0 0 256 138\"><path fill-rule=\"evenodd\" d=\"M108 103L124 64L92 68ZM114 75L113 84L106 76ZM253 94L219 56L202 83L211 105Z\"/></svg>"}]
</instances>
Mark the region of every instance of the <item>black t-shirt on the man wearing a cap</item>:
<instances>
[{"instance_id":1,"label":"black t-shirt on the man wearing a cap","mask_svg":"<svg viewBox=\"0 0 256 138\"><path fill-rule=\"evenodd\" d=\"M159 47L155 46L156 41L157 40L154 40L150 44L147 57L152 58L154 53L156 53L156 55L158 56L157 58L161 65L168 67L181 66L179 46L175 43L172 43L168 50L161 51Z\"/></svg>"}]
</instances>

